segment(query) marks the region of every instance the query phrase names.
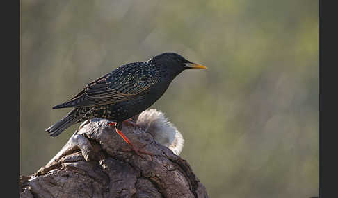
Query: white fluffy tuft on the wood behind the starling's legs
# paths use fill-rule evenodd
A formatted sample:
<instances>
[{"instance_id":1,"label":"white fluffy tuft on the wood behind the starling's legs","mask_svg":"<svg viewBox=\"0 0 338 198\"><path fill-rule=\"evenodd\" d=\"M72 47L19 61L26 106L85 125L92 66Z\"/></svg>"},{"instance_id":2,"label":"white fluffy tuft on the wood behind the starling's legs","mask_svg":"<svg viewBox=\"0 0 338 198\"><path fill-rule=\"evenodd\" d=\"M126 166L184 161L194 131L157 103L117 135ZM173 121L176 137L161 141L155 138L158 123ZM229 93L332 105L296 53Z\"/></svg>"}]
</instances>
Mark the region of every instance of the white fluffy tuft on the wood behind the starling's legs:
<instances>
[{"instance_id":1,"label":"white fluffy tuft on the wood behind the starling's legs","mask_svg":"<svg viewBox=\"0 0 338 198\"><path fill-rule=\"evenodd\" d=\"M177 128L168 121L161 111L147 109L138 116L137 124L152 134L155 140L168 147L172 152L179 155L182 152L184 139Z\"/></svg>"}]
</instances>

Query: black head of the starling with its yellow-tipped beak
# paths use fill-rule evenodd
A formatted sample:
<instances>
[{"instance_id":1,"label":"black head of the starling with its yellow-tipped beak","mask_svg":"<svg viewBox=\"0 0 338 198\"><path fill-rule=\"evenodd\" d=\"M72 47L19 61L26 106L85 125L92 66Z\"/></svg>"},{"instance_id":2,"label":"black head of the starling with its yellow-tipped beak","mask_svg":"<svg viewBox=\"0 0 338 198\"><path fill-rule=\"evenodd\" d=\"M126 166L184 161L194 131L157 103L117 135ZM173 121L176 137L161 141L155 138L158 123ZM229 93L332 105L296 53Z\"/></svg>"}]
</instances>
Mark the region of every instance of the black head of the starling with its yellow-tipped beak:
<instances>
[{"instance_id":1,"label":"black head of the starling with its yellow-tipped beak","mask_svg":"<svg viewBox=\"0 0 338 198\"><path fill-rule=\"evenodd\" d=\"M162 53L152 57L148 62L154 64L161 73L171 75L172 78L186 69L207 69L206 66L190 62L177 53Z\"/></svg>"}]
</instances>

